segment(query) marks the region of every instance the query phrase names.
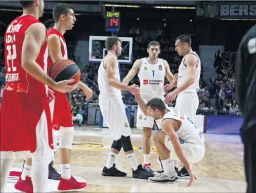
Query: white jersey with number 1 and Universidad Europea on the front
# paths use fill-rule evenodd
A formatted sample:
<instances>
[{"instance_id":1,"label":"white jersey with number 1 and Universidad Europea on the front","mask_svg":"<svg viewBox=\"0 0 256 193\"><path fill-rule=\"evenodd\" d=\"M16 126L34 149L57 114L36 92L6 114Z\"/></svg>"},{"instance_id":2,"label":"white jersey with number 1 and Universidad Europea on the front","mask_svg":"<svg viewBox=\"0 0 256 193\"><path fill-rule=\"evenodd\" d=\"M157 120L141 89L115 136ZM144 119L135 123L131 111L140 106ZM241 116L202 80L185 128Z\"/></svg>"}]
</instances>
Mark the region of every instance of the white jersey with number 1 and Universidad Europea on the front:
<instances>
[{"instance_id":1,"label":"white jersey with number 1 and Universidad Europea on the front","mask_svg":"<svg viewBox=\"0 0 256 193\"><path fill-rule=\"evenodd\" d=\"M140 79L141 95L159 98L164 95L163 84L165 68L163 60L158 58L156 64L150 64L147 58L141 59L141 67L138 74Z\"/></svg>"}]
</instances>

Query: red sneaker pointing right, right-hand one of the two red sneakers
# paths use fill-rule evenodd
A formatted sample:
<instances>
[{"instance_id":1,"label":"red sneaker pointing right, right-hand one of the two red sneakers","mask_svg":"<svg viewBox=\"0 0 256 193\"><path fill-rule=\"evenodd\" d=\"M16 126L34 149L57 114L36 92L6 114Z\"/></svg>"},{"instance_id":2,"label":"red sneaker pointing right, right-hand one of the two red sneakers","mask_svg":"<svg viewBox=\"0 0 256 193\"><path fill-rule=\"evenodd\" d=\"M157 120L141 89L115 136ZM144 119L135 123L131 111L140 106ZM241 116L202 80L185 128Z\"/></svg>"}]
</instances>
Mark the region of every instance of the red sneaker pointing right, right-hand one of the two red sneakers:
<instances>
[{"instance_id":1,"label":"red sneaker pointing right, right-hand one of the two red sneakers","mask_svg":"<svg viewBox=\"0 0 256 193\"><path fill-rule=\"evenodd\" d=\"M58 185L58 190L75 190L75 189L81 189L87 186L86 182L78 182L76 179L71 176L70 179L63 179L60 177L60 183Z\"/></svg>"}]
</instances>

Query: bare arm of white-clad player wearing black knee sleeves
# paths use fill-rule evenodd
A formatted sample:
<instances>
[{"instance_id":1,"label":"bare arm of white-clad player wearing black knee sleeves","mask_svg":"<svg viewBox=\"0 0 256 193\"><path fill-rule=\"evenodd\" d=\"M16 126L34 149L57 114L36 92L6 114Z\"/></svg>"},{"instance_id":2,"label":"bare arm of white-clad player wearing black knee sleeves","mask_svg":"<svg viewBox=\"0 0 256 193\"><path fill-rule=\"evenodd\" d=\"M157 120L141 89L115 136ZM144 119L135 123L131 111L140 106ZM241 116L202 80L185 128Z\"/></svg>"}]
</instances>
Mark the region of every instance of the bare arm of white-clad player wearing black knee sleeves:
<instances>
[{"instance_id":1,"label":"bare arm of white-clad player wearing black knee sleeves","mask_svg":"<svg viewBox=\"0 0 256 193\"><path fill-rule=\"evenodd\" d=\"M104 60L104 68L107 71L107 79L108 79L108 85L113 86L117 89L120 90L126 90L132 93L138 94L140 92L140 88L138 87L132 87L132 86L127 86L120 82L116 77L115 77L115 72L117 68L117 58L113 55L110 55L105 58Z\"/></svg>"}]
</instances>

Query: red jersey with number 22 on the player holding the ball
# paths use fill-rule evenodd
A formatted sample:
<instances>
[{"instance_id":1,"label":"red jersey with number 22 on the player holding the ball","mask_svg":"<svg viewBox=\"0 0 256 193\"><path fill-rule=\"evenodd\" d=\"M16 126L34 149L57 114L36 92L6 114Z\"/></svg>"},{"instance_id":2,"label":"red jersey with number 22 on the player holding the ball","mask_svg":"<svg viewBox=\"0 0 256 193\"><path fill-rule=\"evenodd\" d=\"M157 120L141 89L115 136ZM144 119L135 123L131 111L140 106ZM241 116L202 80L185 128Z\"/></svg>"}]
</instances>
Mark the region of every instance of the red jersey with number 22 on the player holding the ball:
<instances>
[{"instance_id":1,"label":"red jersey with number 22 on the player holding the ball","mask_svg":"<svg viewBox=\"0 0 256 193\"><path fill-rule=\"evenodd\" d=\"M41 23L31 15L17 17L8 26L5 33L5 66L6 66L6 90L46 94L45 84L37 81L21 67L21 54L24 35L27 28L34 24ZM47 36L46 36L47 39ZM47 40L42 44L40 53L36 59L37 64L47 72Z\"/></svg>"}]
</instances>

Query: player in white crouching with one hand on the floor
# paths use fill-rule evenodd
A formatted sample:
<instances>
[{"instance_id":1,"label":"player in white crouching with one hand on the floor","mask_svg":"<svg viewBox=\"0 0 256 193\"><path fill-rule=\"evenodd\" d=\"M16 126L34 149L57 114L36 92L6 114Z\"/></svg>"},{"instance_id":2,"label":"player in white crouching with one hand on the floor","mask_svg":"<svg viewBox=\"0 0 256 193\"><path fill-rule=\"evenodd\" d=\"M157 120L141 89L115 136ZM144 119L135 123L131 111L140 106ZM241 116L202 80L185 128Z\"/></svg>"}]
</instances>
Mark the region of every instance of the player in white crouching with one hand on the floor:
<instances>
[{"instance_id":1,"label":"player in white crouching with one hand on the floor","mask_svg":"<svg viewBox=\"0 0 256 193\"><path fill-rule=\"evenodd\" d=\"M195 175L189 163L199 162L204 154L204 138L195 124L180 111L165 107L164 102L154 98L145 104L140 95L135 95L141 110L148 117L155 120L162 119L162 131L153 135L157 153L161 159L163 172L155 177L150 177L151 182L174 183L177 173L174 160L181 160L190 175L188 186L194 183Z\"/></svg>"}]
</instances>

